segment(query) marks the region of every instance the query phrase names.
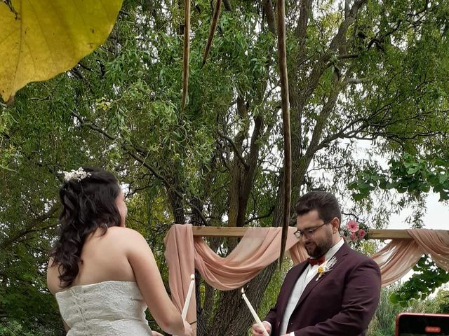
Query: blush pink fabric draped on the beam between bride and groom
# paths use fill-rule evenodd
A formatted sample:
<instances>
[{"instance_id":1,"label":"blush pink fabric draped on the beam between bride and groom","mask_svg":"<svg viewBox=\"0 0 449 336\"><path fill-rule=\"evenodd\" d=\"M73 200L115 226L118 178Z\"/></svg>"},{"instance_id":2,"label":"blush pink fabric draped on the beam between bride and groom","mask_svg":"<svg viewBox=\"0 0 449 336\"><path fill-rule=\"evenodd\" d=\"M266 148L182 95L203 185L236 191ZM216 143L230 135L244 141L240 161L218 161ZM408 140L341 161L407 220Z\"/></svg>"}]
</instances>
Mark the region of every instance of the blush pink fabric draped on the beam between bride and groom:
<instances>
[{"instance_id":1,"label":"blush pink fabric draped on the beam between bride and groom","mask_svg":"<svg viewBox=\"0 0 449 336\"><path fill-rule=\"evenodd\" d=\"M303 246L297 244L298 239L293 235L295 230L289 228L286 251L290 253L293 262L298 263L306 260L309 255ZM226 258L213 252L202 237L193 237L190 224L172 225L164 242L172 300L177 309L182 311L189 290L190 275L194 274L195 268L210 286L220 290L240 288L279 258L281 228L248 228L240 243ZM186 319L189 323L196 321L194 293Z\"/></svg>"}]
</instances>

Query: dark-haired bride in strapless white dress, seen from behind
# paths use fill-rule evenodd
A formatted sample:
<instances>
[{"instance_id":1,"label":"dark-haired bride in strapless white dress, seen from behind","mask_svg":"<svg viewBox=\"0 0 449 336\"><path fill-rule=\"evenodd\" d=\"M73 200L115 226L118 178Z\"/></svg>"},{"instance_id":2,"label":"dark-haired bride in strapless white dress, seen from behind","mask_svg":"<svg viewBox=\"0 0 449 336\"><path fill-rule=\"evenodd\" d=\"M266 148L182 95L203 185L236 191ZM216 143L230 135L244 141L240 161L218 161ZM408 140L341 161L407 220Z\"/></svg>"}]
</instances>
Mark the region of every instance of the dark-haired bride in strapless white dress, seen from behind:
<instances>
[{"instance_id":1,"label":"dark-haired bride in strapless white dress, seen from behind","mask_svg":"<svg viewBox=\"0 0 449 336\"><path fill-rule=\"evenodd\" d=\"M98 168L65 173L60 237L48 262L47 285L67 335L192 336L170 301L147 241L125 228L126 204L113 174Z\"/></svg>"}]
</instances>

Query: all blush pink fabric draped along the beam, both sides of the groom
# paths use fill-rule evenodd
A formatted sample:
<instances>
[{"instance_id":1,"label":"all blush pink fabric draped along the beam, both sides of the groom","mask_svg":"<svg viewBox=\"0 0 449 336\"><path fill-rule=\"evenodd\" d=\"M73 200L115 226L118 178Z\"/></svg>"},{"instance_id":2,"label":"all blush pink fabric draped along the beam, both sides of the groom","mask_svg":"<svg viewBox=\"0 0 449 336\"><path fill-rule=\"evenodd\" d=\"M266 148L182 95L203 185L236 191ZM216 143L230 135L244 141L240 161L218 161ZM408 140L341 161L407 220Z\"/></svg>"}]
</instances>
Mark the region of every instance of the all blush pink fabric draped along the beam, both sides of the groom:
<instances>
[{"instance_id":1,"label":"all blush pink fabric draped along the beam, both sides of the groom","mask_svg":"<svg viewBox=\"0 0 449 336\"><path fill-rule=\"evenodd\" d=\"M286 251L296 265L308 258L304 246L289 228ZM445 230L408 230L412 239L393 239L371 258L377 262L382 274L382 286L401 279L423 254L429 255L436 265L449 271L449 232ZM168 281L172 300L182 311L190 275L198 269L203 279L220 290L242 287L264 267L279 258L281 228L248 228L234 250L221 258L213 252L202 237L193 237L192 225L172 225L165 238ZM195 294L192 294L187 322L196 321Z\"/></svg>"}]
</instances>

